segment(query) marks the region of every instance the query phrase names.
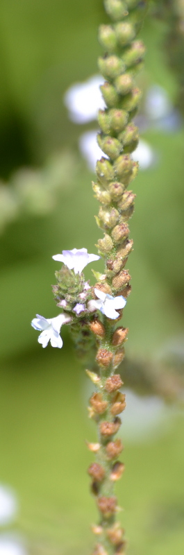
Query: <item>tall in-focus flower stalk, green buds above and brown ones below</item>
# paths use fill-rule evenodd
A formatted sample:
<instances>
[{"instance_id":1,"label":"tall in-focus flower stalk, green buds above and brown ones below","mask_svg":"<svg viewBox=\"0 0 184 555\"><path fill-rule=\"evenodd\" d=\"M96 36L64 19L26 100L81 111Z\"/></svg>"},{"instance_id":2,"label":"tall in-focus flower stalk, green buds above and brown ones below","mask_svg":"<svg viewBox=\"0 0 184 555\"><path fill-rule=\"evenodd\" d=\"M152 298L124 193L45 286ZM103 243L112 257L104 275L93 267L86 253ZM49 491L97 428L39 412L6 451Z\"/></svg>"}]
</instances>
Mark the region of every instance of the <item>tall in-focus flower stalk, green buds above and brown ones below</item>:
<instances>
[{"instance_id":1,"label":"tall in-focus flower stalk, green buds above and brown ones below","mask_svg":"<svg viewBox=\"0 0 184 555\"><path fill-rule=\"evenodd\" d=\"M90 329L97 337L99 366L99 375L87 371L96 385L96 392L90 398L90 416L98 428L98 443L88 444L96 454L88 472L100 514L99 524L93 527L97 534L93 555L123 555L126 540L116 521L119 508L114 490L115 481L124 472L124 464L118 460L123 446L115 434L126 402L124 393L119 391L122 379L115 370L124 359L128 329L115 327L115 323L122 318L122 309L131 291L131 276L125 266L133 248L128 219L133 214L135 194L127 187L138 169L137 162L131 158L138 143L133 118L141 98L135 77L142 68L145 49L142 41L137 40L137 33L144 20L147 0L104 0L104 6L112 20L99 28L99 42L104 49L99 70L106 79L101 85L106 109L99 110L101 131L97 140L105 157L97 162L97 182L92 186L100 203L96 219L104 237L99 239L98 248L105 271L103 275L96 274L94 299L88 303L88 309L96 311Z\"/></svg>"}]
</instances>

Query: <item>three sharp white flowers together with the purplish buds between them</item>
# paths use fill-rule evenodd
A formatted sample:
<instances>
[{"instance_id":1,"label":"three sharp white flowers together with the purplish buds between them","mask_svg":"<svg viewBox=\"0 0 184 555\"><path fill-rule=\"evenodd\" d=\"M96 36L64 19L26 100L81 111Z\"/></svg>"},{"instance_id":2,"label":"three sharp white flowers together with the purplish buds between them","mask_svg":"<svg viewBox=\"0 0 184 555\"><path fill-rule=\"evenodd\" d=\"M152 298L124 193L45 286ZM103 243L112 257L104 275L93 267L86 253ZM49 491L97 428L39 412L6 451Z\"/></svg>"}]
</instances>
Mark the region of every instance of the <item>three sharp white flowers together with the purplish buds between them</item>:
<instances>
[{"instance_id":1,"label":"three sharp white flowers together with the purplish buds between them","mask_svg":"<svg viewBox=\"0 0 184 555\"><path fill-rule=\"evenodd\" d=\"M93 255L87 253L86 248L73 248L72 250L62 250L62 254L54 255L53 259L57 262L62 262L65 268L69 270L69 278L72 280L77 280L81 276L81 272L83 268L90 264L90 262L94 262L99 260L98 255ZM73 271L73 273L72 273ZM75 278L76 276L76 278ZM66 274L64 275L66 277ZM73 285L72 281L72 285ZM71 284L71 281L70 281ZM82 291L79 289L78 295L75 293L75 299L80 302L74 302L74 298L72 296L72 287L71 291L67 291L66 298L62 298L60 302L58 302L58 306L65 311L62 314L58 314L55 318L44 318L44 316L40 316L40 314L36 314L36 318L33 318L31 325L34 327L35 330L38 330L40 335L38 336L38 343L41 343L42 347L47 347L49 341L51 342L52 347L58 347L59 349L62 348L62 339L60 337L60 328L63 324L74 323L74 319L76 316L80 316L81 314L85 314L85 316L94 311L101 311L102 314L105 314L108 318L115 320L119 317L119 312L117 309L122 309L126 305L126 300L122 296L112 297L109 294L103 293L97 288L94 288L94 293L97 296L98 300L92 299L87 302L87 292L90 291L90 285L87 282L83 281L81 276L81 282L79 278L79 284L82 284ZM53 286L54 287L54 286ZM56 286L57 287L57 286ZM69 300L73 300L73 306L69 304ZM82 302L81 302L82 301ZM66 311L68 309L68 311ZM72 314L73 313L73 314Z\"/></svg>"}]
</instances>

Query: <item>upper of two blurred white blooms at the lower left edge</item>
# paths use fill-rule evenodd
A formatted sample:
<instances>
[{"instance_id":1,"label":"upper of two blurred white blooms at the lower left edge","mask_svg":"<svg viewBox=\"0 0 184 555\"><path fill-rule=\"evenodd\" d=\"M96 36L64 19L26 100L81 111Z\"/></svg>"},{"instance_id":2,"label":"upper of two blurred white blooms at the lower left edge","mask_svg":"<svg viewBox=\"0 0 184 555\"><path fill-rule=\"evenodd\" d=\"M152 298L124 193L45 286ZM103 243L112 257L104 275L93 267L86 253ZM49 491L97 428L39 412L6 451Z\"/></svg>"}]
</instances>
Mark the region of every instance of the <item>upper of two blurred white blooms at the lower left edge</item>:
<instances>
[{"instance_id":1,"label":"upper of two blurred white blooms at the lower left edge","mask_svg":"<svg viewBox=\"0 0 184 555\"><path fill-rule=\"evenodd\" d=\"M0 485L0 526L14 520L18 511L15 493L7 486Z\"/></svg>"}]
</instances>

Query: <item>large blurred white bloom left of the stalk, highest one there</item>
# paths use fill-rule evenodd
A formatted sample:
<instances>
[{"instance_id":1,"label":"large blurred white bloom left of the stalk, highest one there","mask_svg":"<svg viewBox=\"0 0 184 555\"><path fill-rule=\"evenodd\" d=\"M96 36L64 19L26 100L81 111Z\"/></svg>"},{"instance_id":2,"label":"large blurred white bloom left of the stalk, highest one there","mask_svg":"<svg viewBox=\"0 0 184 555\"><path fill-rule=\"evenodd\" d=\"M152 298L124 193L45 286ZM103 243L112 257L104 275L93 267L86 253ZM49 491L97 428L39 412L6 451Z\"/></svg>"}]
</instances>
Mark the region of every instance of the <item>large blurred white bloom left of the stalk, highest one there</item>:
<instances>
[{"instance_id":1,"label":"large blurred white bloom left of the stalk, highest one there","mask_svg":"<svg viewBox=\"0 0 184 555\"><path fill-rule=\"evenodd\" d=\"M98 109L105 108L99 89L103 82L103 77L94 75L84 83L76 83L67 90L64 102L69 110L69 118L74 123L87 123L97 119Z\"/></svg>"}]
</instances>

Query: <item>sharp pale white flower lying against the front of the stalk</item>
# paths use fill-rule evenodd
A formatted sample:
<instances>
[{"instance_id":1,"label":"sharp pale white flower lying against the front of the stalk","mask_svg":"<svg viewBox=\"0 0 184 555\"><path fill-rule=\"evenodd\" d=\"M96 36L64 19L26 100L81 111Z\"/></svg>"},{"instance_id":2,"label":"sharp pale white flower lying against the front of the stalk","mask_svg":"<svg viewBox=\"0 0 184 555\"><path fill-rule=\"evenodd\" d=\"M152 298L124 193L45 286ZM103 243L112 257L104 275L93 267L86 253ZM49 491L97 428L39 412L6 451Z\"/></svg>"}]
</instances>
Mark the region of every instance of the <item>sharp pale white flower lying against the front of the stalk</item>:
<instances>
[{"instance_id":1,"label":"sharp pale white flower lying against the front of the stalk","mask_svg":"<svg viewBox=\"0 0 184 555\"><path fill-rule=\"evenodd\" d=\"M115 320L119 316L117 310L124 308L126 305L126 299L120 295L119 297L112 297L108 293L103 293L97 288L94 288L94 293L99 300L90 300L87 303L87 308L90 312L94 310L101 310L102 314L105 314L107 318Z\"/></svg>"}]
</instances>

